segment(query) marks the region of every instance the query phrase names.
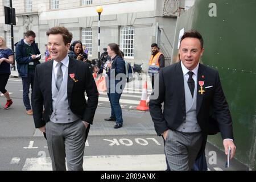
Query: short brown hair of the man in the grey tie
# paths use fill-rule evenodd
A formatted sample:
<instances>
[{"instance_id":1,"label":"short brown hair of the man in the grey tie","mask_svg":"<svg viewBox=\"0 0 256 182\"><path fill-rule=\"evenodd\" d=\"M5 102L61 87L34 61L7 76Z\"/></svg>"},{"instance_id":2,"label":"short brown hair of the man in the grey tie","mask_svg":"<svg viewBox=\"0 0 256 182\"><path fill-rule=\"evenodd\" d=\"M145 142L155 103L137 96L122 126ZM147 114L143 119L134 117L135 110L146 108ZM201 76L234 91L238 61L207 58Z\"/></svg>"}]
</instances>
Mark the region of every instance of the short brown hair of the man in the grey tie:
<instances>
[{"instance_id":1,"label":"short brown hair of the man in the grey tie","mask_svg":"<svg viewBox=\"0 0 256 182\"><path fill-rule=\"evenodd\" d=\"M67 45L68 43L71 43L71 40L73 38L72 33L69 32L68 29L65 28L65 27L52 27L46 32L47 36L49 36L50 34L53 34L53 35L60 34L60 35L62 35L65 45Z\"/></svg>"}]
</instances>

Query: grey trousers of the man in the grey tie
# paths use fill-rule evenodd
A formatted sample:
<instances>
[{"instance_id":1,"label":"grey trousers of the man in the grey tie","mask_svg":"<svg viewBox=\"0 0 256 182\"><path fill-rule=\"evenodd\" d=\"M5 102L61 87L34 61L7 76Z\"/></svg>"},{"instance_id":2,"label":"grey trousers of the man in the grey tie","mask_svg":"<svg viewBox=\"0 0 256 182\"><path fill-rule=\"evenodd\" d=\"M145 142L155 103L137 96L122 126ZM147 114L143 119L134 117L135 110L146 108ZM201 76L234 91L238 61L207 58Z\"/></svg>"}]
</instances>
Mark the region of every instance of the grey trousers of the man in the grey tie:
<instances>
[{"instance_id":1,"label":"grey trousers of the man in the grey tie","mask_svg":"<svg viewBox=\"0 0 256 182\"><path fill-rule=\"evenodd\" d=\"M85 126L81 119L72 123L46 123L46 137L53 171L82 171Z\"/></svg>"}]
</instances>

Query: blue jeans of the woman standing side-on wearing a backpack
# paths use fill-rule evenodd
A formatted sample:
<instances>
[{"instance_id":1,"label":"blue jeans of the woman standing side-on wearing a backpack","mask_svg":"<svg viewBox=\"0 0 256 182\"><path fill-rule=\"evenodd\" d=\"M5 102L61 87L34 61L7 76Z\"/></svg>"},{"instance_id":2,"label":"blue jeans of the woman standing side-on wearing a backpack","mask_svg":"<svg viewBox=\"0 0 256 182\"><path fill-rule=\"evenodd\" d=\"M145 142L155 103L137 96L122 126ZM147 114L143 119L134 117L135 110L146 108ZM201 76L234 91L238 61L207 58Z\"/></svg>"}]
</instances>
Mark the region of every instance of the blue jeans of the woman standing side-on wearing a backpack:
<instances>
[{"instance_id":1,"label":"blue jeans of the woman standing side-on wearing a backpack","mask_svg":"<svg viewBox=\"0 0 256 182\"><path fill-rule=\"evenodd\" d=\"M111 105L111 118L117 119L117 123L123 123L122 109L119 103L122 93L108 93L110 105Z\"/></svg>"}]
</instances>

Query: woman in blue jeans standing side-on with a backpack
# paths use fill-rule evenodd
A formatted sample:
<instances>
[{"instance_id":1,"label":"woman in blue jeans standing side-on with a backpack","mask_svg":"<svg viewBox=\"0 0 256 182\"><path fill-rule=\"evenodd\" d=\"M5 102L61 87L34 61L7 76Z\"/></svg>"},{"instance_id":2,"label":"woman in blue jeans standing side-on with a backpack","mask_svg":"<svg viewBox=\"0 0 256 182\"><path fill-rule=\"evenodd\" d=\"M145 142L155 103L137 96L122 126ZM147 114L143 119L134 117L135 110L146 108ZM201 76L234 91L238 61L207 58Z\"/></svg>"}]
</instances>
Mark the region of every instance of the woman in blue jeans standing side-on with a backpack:
<instances>
[{"instance_id":1,"label":"woman in blue jeans standing side-on with a backpack","mask_svg":"<svg viewBox=\"0 0 256 182\"><path fill-rule=\"evenodd\" d=\"M123 126L122 109L119 100L122 90L125 88L126 77L116 77L119 73L125 74L125 61L123 60L119 46L115 43L108 45L108 55L109 59L106 61L104 66L101 68L94 68L94 71L102 73L103 69L106 70L106 74L108 75L107 87L111 106L111 115L109 118L105 118L104 120L115 121L116 125L114 126L114 129L119 129Z\"/></svg>"}]
</instances>

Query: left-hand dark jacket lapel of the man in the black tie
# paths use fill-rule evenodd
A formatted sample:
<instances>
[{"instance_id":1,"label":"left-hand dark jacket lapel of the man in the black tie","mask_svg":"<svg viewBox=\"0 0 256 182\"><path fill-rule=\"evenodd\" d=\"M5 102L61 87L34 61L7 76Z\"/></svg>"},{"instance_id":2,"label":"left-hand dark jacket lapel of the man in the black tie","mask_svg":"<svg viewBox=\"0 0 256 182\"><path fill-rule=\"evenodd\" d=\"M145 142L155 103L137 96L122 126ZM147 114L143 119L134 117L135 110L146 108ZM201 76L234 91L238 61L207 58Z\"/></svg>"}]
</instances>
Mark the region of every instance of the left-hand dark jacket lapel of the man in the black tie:
<instances>
[{"instance_id":1,"label":"left-hand dark jacket lapel of the man in the black tie","mask_svg":"<svg viewBox=\"0 0 256 182\"><path fill-rule=\"evenodd\" d=\"M185 89L184 89L184 77L183 72L181 68L181 63L177 64L176 67L176 92L178 94L178 99L180 100L181 109L186 113L186 107L185 107Z\"/></svg>"}]
</instances>

